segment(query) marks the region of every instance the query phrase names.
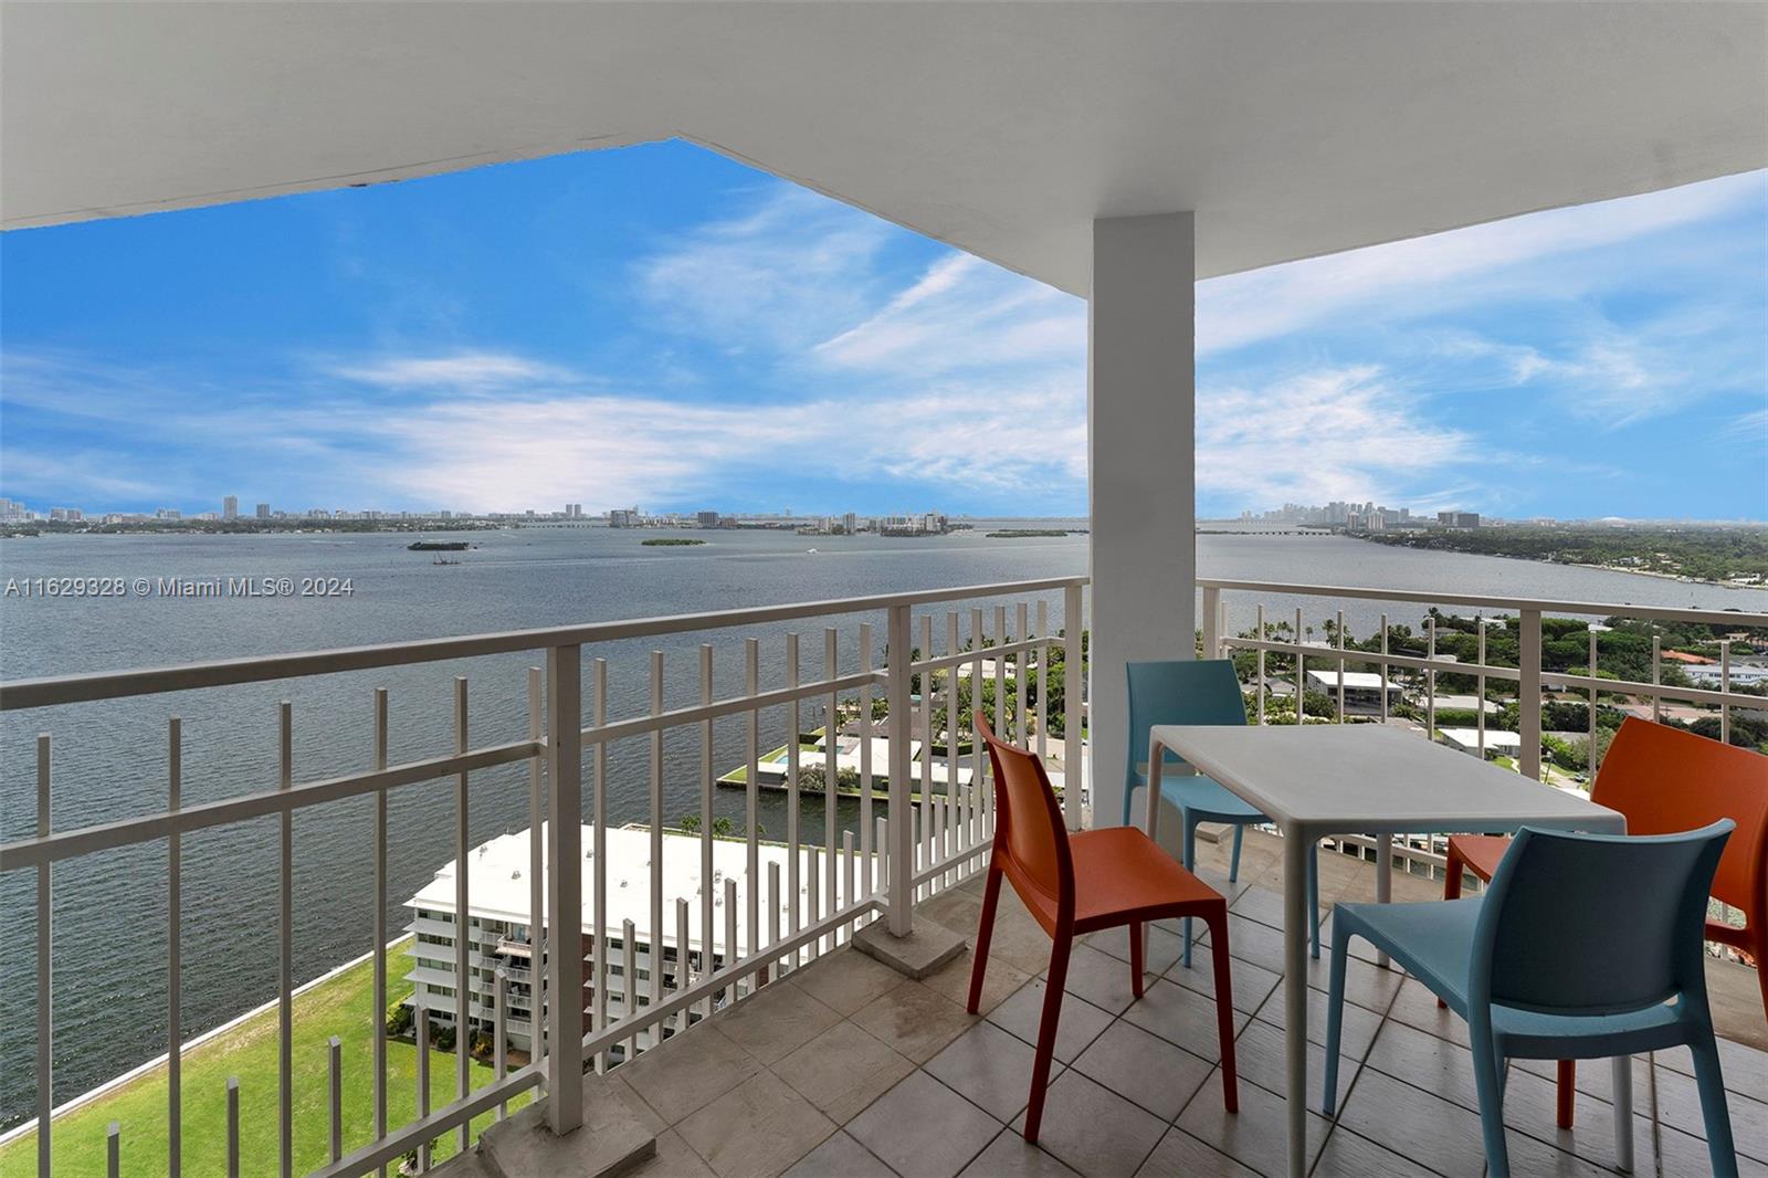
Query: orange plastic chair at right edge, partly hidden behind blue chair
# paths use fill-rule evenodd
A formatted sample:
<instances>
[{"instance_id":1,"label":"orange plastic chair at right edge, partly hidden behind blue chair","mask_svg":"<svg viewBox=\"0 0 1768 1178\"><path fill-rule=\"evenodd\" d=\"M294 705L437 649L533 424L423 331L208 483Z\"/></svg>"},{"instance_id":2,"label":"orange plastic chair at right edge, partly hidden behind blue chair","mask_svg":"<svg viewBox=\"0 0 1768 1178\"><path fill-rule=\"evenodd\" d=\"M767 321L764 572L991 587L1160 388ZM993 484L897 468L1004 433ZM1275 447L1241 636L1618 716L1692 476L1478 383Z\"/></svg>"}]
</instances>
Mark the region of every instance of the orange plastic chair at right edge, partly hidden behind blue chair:
<instances>
[{"instance_id":1,"label":"orange plastic chair at right edge, partly hidden behind blue chair","mask_svg":"<svg viewBox=\"0 0 1768 1178\"><path fill-rule=\"evenodd\" d=\"M1627 815L1628 835L1674 835L1722 817L1738 824L1713 876L1713 899L1743 913L1743 927L1706 922L1706 939L1743 950L1768 1017L1768 757L1749 748L1628 716L1602 759L1589 799ZM1448 840L1443 899L1460 895L1462 870L1490 881L1510 838ZM1559 1128L1572 1127L1577 1072L1559 1061Z\"/></svg>"}]
</instances>

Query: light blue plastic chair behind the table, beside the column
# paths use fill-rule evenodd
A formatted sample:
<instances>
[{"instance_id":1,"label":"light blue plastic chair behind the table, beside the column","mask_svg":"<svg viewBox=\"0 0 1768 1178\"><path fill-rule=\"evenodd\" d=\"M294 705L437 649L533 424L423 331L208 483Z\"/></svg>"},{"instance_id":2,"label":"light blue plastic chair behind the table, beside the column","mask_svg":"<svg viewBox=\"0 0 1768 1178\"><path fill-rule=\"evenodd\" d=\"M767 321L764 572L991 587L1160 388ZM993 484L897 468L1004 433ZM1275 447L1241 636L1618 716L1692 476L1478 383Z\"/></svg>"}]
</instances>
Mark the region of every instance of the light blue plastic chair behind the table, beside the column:
<instances>
[{"instance_id":1,"label":"light blue plastic chair behind the table, beside the column","mask_svg":"<svg viewBox=\"0 0 1768 1178\"><path fill-rule=\"evenodd\" d=\"M1130 759L1123 784L1123 826L1130 826L1135 791L1147 789L1147 731L1156 723L1246 723L1246 699L1239 693L1239 676L1225 658L1128 663L1130 674ZM1162 764L1160 796L1179 812L1185 830L1181 861L1197 868L1197 824L1234 826L1234 853L1227 879L1239 879L1239 844L1246 826L1269 822L1222 784L1195 773L1170 773L1185 761L1169 752ZM1314 955L1321 955L1321 872L1319 845L1308 847L1308 906L1314 913ZM1192 922L1185 922L1185 968L1192 964Z\"/></svg>"}]
</instances>

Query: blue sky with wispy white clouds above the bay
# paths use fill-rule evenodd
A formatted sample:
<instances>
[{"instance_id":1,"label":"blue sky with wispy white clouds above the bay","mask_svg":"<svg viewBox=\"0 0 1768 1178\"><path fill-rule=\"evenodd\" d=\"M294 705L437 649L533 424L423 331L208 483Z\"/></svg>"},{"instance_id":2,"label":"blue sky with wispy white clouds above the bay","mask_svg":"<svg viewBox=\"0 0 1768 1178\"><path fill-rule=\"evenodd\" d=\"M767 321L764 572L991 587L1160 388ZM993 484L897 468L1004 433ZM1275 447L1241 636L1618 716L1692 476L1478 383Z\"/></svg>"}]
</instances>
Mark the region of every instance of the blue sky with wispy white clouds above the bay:
<instances>
[{"instance_id":1,"label":"blue sky with wispy white clouds above the bay","mask_svg":"<svg viewBox=\"0 0 1768 1178\"><path fill-rule=\"evenodd\" d=\"M1086 306L684 143L0 237L32 508L1086 511ZM1199 285L1199 508L1768 518L1768 173Z\"/></svg>"}]
</instances>

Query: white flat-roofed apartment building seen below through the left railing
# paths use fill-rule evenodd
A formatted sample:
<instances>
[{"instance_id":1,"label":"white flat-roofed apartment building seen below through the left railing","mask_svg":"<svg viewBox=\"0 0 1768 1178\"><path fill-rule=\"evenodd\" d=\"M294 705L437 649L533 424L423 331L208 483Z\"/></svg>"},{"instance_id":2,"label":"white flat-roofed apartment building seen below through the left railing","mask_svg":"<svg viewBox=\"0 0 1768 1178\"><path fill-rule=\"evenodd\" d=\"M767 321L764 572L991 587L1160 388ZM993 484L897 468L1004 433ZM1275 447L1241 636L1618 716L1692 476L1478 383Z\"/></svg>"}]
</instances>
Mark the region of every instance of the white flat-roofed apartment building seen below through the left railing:
<instances>
[{"instance_id":1,"label":"white flat-roofed apartment building seen below through the left railing","mask_svg":"<svg viewBox=\"0 0 1768 1178\"><path fill-rule=\"evenodd\" d=\"M545 835L545 828L543 828ZM598 930L594 923L594 842L591 826L583 826L583 911L578 918L582 927L582 950L585 964L583 1005L594 1003L594 957L598 946L608 952L608 1019L617 1021L628 1010L628 994L636 989L638 1006L651 1005L652 946L663 950L663 969L674 980L675 960L681 946L675 936L675 900L686 899L690 904L688 964L695 978L707 971L705 946L700 941L700 837L698 835L663 835L663 934L651 929L651 831L645 826L622 826L608 830L608 923ZM545 847L545 837L541 838ZM543 851L545 854L545 851ZM804 881L810 877L810 860L820 860L820 847L804 847L803 870L799 872L799 911L810 911L810 897ZM714 945L711 950L711 969L718 969L725 960L725 881L737 884L737 945L746 957L755 945L748 929L748 881L744 863L748 844L741 838L713 840L713 929ZM767 865L780 865L781 897L778 927L789 927L790 902L783 893L787 879L787 849L783 845L760 845L762 879L767 877ZM469 856L467 877L467 946L469 946L469 1024L490 1029L495 1022L497 969L506 971L509 985L509 1010L506 1012L506 1029L509 1045L516 1051L529 1051L532 1045L534 1012L534 945L529 932L529 831L499 835L474 847ZM822 863L817 865L819 868ZM545 872L545 860L541 870ZM444 865L417 895L405 902L412 909L412 923L407 930L417 937L412 953L414 969L405 975L412 983L407 1005L421 1003L430 1010L431 1022L454 1022L454 872L456 861ZM827 876L819 870L819 879ZM824 884L826 886L826 884ZM545 890L543 890L545 897ZM543 899L545 904L545 899ZM767 922L766 899L758 906L762 922ZM543 916L545 920L545 916ZM624 925L633 922L633 953L636 987L629 987L624 976ZM545 941L545 923L543 923ZM599 932L599 936L598 936ZM651 1045L651 1035L640 1033L638 1045ZM619 1052L615 1052L619 1054Z\"/></svg>"}]
</instances>

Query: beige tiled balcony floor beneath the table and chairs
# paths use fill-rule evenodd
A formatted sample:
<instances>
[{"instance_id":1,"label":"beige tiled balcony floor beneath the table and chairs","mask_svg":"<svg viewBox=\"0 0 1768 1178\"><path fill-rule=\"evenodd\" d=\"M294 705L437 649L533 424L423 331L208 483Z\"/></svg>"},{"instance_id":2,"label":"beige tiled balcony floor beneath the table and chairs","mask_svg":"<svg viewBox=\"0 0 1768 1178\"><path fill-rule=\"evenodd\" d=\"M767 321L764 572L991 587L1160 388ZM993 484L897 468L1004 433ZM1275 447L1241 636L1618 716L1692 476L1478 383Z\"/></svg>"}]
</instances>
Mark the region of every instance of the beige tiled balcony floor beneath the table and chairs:
<instances>
[{"instance_id":1,"label":"beige tiled balcony floor beneath the table and chairs","mask_svg":"<svg viewBox=\"0 0 1768 1178\"><path fill-rule=\"evenodd\" d=\"M1128 985L1121 930L1096 934L1070 966L1057 1070L1040 1144L1017 1128L1027 1100L1048 937L1002 891L981 1014L964 1012L971 957L911 982L842 950L695 1031L592 1079L587 1113L617 1150L654 1150L635 1174L771 1173L889 1178L1006 1174L1280 1173L1280 897L1268 884L1278 847L1252 833L1239 884L1225 845L1202 854L1204 877L1232 897L1239 1114L1222 1113L1215 1008L1206 959L1186 969L1174 929L1156 927L1146 996ZM1328 856L1322 897L1374 899L1374 868ZM918 918L974 929L979 877L918 907ZM1402 876L1395 899L1432 899L1441 884ZM1328 923L1330 936L1330 923ZM1358 950L1353 950L1358 953ZM1768 1166L1768 1028L1752 973L1713 960L1726 1081L1743 1173ZM1312 968L1324 1005L1324 962ZM1335 1121L1310 1116L1314 1174L1480 1174L1478 1100L1464 1026L1429 991L1353 960ZM1321 1019L1312 1021L1310 1082L1319 1091ZM1687 1051L1634 1061L1635 1173L1708 1173ZM1577 1125L1554 1127L1552 1065L1512 1065L1506 1098L1519 1174L1616 1173L1609 1074L1579 1072ZM1651 1102L1658 1105L1653 1143ZM518 1125L492 1130L483 1157L444 1173L598 1173L606 1155L529 1153ZM638 1143L636 1146L633 1143ZM506 1166L497 1171L493 1166ZM537 1173L537 1171L532 1171Z\"/></svg>"}]
</instances>

